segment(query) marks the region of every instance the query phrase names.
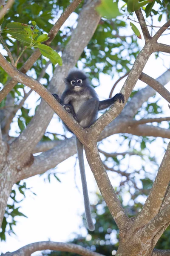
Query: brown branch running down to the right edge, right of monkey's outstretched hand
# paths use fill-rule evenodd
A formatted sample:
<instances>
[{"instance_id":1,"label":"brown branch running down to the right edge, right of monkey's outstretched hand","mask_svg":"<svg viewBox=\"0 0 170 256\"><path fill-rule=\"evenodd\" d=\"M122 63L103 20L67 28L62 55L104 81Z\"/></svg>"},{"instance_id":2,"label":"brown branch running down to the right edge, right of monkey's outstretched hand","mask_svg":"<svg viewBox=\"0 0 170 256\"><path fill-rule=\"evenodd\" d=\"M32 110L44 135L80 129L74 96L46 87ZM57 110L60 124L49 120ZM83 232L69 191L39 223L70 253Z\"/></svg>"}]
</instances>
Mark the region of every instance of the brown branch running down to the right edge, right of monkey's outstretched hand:
<instances>
[{"instance_id":1,"label":"brown branch running down to the right edge, right of monkey's outstretched hand","mask_svg":"<svg viewBox=\"0 0 170 256\"><path fill-rule=\"evenodd\" d=\"M170 103L170 92L161 83L159 83L159 81L153 79L147 74L144 74L143 72L141 73L139 79L144 83L149 84L150 87L156 90L156 92L158 92L164 99L167 100L167 102Z\"/></svg>"}]
</instances>

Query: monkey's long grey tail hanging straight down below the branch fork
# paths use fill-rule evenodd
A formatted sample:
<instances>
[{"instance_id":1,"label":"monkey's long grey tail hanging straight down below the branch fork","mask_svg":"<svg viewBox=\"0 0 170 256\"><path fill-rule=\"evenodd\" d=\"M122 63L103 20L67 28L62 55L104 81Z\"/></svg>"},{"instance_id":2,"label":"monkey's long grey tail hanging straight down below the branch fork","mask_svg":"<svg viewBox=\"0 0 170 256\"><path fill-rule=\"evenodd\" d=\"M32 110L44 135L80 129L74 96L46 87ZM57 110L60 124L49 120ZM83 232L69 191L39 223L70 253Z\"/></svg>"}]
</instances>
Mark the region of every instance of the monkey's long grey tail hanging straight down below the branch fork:
<instances>
[{"instance_id":1,"label":"monkey's long grey tail hanging straight down below the branch fork","mask_svg":"<svg viewBox=\"0 0 170 256\"><path fill-rule=\"evenodd\" d=\"M82 191L83 191L83 197L84 197L84 204L85 204L85 216L88 224L88 229L91 231L94 231L94 224L91 216L91 208L90 208L90 202L88 198L88 187L87 187L87 181L85 177L85 164L83 159L83 145L79 141L79 139L76 138L76 145L77 145L77 154L79 159L79 169L81 174L81 180L82 180Z\"/></svg>"}]
</instances>

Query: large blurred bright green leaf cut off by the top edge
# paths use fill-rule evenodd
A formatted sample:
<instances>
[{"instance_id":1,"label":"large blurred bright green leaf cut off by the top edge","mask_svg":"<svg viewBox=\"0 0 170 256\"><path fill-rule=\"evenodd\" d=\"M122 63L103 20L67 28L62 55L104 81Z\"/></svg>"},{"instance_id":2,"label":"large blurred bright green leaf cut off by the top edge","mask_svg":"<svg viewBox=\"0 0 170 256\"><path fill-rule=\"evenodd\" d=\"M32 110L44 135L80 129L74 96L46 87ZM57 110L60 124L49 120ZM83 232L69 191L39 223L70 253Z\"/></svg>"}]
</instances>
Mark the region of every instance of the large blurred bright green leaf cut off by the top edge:
<instances>
[{"instance_id":1,"label":"large blurred bright green leaf cut off by the top edge","mask_svg":"<svg viewBox=\"0 0 170 256\"><path fill-rule=\"evenodd\" d=\"M113 3L113 0L101 0L101 4L96 7L96 11L99 12L102 17L107 17L108 19L122 15L119 12L117 2Z\"/></svg>"}]
</instances>

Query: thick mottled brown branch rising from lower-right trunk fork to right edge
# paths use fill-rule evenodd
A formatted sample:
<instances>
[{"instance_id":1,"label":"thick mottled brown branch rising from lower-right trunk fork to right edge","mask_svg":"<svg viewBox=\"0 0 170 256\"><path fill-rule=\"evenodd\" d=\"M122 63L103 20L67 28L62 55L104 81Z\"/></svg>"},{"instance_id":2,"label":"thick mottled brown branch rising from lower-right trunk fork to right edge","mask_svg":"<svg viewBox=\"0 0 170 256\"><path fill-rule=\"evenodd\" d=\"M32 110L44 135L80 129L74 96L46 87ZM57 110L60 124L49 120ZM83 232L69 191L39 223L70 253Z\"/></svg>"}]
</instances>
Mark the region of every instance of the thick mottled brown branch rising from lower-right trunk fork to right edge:
<instances>
[{"instance_id":1,"label":"thick mottled brown branch rising from lower-right trunk fork to right edge","mask_svg":"<svg viewBox=\"0 0 170 256\"><path fill-rule=\"evenodd\" d=\"M164 154L158 174L153 183L150 194L135 220L135 225L144 225L148 223L158 212L162 204L167 186L170 181L170 143L167 146L167 151Z\"/></svg>"}]
</instances>

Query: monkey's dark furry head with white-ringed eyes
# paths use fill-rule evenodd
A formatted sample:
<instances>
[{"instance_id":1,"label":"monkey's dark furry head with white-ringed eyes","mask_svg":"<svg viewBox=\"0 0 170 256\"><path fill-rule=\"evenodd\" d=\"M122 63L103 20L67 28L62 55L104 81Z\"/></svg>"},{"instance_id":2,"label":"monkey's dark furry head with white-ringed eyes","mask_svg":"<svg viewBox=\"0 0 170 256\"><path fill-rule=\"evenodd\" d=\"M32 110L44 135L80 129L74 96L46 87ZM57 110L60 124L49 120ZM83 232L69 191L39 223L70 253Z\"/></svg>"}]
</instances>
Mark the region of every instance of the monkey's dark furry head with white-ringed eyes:
<instances>
[{"instance_id":1,"label":"monkey's dark furry head with white-ringed eyes","mask_svg":"<svg viewBox=\"0 0 170 256\"><path fill-rule=\"evenodd\" d=\"M87 76L80 70L72 70L64 81L69 89L77 89L88 85Z\"/></svg>"}]
</instances>

